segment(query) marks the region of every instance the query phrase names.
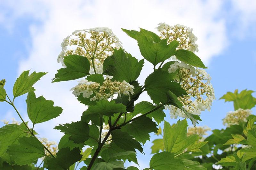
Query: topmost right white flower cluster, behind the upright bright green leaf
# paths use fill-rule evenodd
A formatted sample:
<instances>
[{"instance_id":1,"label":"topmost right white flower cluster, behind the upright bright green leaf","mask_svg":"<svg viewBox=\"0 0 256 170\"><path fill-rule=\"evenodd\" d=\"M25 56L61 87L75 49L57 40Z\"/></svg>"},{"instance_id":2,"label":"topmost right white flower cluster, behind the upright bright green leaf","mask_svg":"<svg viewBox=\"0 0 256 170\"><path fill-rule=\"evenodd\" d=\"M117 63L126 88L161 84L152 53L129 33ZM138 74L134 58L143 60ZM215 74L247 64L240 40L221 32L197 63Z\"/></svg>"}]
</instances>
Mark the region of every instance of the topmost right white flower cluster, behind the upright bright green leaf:
<instances>
[{"instance_id":1,"label":"topmost right white flower cluster, behind the upright bright green leaf","mask_svg":"<svg viewBox=\"0 0 256 170\"><path fill-rule=\"evenodd\" d=\"M178 49L187 49L192 52L198 52L196 44L197 37L192 33L193 29L183 25L169 26L165 23L159 23L157 30L162 39L168 39L168 43L178 41Z\"/></svg>"}]
</instances>

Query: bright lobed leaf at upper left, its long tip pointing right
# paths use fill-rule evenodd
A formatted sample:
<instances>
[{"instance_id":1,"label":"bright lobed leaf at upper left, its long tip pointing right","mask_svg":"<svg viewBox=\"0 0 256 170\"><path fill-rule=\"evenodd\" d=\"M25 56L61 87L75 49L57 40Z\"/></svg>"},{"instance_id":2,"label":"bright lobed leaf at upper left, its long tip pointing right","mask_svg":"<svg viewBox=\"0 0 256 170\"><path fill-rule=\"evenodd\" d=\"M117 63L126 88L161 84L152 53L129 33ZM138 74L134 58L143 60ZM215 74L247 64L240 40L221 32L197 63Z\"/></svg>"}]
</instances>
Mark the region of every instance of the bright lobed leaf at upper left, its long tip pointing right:
<instances>
[{"instance_id":1,"label":"bright lobed leaf at upper left, its long tip pointing right","mask_svg":"<svg viewBox=\"0 0 256 170\"><path fill-rule=\"evenodd\" d=\"M29 76L29 70L23 71L20 74L20 77L17 78L16 82L13 85L13 97L16 98L18 96L21 96L22 94L25 94L27 92L35 91L34 87L32 87L38 80L40 80L41 77L43 77L46 73L39 72L36 73L34 71Z\"/></svg>"}]
</instances>

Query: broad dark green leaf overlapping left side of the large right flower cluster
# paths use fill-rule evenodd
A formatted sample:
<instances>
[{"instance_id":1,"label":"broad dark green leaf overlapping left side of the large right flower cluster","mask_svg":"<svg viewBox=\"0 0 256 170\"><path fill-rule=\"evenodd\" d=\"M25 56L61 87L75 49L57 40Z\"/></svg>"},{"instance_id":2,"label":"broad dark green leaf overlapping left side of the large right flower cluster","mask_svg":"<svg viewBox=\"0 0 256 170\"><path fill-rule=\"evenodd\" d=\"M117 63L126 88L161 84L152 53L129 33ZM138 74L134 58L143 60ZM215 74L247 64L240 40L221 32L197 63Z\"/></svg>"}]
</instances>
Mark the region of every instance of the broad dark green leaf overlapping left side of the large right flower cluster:
<instances>
[{"instance_id":1,"label":"broad dark green leaf overlapping left side of the large right flower cluster","mask_svg":"<svg viewBox=\"0 0 256 170\"><path fill-rule=\"evenodd\" d=\"M187 94L181 86L173 81L172 76L167 71L156 70L145 80L145 90L154 103L167 102L167 92L171 91L176 96Z\"/></svg>"}]
</instances>

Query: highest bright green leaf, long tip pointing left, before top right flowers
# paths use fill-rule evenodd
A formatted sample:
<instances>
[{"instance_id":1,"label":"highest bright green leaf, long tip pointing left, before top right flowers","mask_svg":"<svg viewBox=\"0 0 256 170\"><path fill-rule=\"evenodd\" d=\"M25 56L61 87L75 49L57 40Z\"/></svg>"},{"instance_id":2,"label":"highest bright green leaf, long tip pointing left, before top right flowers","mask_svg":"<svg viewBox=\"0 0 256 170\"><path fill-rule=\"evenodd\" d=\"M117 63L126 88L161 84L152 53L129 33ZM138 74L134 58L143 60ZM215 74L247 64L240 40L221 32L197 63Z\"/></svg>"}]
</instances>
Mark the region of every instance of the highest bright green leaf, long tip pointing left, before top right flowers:
<instances>
[{"instance_id":1,"label":"highest bright green leaf, long tip pointing left, before top right flowers","mask_svg":"<svg viewBox=\"0 0 256 170\"><path fill-rule=\"evenodd\" d=\"M167 39L159 40L159 37L156 38L156 34L148 33L147 30L141 28L140 32L125 29L123 31L137 40L141 55L154 66L174 55L178 47L178 41L167 44Z\"/></svg>"}]
</instances>

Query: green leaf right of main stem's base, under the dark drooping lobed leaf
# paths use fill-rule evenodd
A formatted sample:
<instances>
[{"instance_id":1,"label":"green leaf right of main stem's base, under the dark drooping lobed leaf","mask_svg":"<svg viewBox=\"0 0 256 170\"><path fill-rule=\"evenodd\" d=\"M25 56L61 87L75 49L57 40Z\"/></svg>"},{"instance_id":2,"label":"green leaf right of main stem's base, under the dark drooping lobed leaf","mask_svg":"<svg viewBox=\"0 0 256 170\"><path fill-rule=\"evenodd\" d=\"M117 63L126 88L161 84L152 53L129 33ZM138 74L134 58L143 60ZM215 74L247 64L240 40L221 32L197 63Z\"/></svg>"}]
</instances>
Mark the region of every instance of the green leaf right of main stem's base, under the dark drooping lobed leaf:
<instances>
[{"instance_id":1,"label":"green leaf right of main stem's base, under the dark drooping lobed leaf","mask_svg":"<svg viewBox=\"0 0 256 170\"><path fill-rule=\"evenodd\" d=\"M118 156L117 156L118 155ZM113 161L113 160L128 160L129 162L134 162L138 164L138 160L136 158L136 152L134 151L126 151L119 146L117 146L115 143L111 143L108 145L105 145L102 148L101 152L101 158L105 161Z\"/></svg>"}]
</instances>

